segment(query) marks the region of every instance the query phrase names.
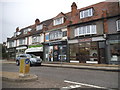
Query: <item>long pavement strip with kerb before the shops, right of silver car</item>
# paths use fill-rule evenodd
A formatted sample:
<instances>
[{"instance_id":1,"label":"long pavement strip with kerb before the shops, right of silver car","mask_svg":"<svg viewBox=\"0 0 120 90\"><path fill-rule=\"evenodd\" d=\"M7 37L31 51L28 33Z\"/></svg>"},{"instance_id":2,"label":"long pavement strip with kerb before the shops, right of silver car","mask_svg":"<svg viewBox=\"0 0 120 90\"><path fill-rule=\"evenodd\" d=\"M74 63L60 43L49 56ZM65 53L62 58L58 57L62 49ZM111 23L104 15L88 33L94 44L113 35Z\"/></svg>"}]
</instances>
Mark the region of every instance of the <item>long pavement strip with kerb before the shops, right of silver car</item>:
<instances>
[{"instance_id":1,"label":"long pavement strip with kerb before the shops, right of silver car","mask_svg":"<svg viewBox=\"0 0 120 90\"><path fill-rule=\"evenodd\" d=\"M60 67L60 68L74 68L74 69L88 69L88 70L102 70L102 71L120 71L120 65L108 65L108 64L86 64L86 63L60 63L60 62L48 62L42 63L43 66L48 67Z\"/></svg>"}]
</instances>

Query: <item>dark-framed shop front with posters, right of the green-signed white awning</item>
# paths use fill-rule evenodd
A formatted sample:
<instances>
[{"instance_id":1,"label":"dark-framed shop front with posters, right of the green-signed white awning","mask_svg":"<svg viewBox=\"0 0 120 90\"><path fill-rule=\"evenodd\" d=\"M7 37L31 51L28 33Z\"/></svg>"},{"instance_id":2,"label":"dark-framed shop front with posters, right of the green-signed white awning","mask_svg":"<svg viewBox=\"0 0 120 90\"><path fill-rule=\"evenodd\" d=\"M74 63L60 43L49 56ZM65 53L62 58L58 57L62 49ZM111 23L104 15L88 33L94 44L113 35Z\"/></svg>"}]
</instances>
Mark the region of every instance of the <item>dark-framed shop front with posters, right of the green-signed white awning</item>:
<instances>
[{"instance_id":1,"label":"dark-framed shop front with posters, right of the green-signed white awning","mask_svg":"<svg viewBox=\"0 0 120 90\"><path fill-rule=\"evenodd\" d=\"M44 43L45 61L67 61L67 41L46 42Z\"/></svg>"}]
</instances>

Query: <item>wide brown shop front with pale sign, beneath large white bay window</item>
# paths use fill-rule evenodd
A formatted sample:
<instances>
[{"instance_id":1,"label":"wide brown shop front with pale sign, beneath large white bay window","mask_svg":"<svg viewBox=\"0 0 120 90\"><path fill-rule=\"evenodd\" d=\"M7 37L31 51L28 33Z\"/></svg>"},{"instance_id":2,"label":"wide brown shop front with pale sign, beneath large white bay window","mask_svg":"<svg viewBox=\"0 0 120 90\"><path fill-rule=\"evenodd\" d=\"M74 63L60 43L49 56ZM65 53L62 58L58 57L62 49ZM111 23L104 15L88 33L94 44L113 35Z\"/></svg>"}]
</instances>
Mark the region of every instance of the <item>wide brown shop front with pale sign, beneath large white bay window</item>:
<instances>
[{"instance_id":1,"label":"wide brown shop front with pale sign, beneath large white bay window","mask_svg":"<svg viewBox=\"0 0 120 90\"><path fill-rule=\"evenodd\" d=\"M105 39L93 37L69 40L70 62L105 63Z\"/></svg>"}]
</instances>

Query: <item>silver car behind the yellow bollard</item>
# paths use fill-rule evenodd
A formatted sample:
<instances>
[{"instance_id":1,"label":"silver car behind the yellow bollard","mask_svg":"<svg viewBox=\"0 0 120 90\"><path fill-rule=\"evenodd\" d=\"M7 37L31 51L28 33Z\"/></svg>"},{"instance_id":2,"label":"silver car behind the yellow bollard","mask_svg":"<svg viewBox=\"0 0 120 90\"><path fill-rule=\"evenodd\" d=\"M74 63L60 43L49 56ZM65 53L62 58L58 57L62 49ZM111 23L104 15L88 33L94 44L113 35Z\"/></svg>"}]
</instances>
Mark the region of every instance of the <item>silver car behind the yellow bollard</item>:
<instances>
[{"instance_id":1,"label":"silver car behind the yellow bollard","mask_svg":"<svg viewBox=\"0 0 120 90\"><path fill-rule=\"evenodd\" d=\"M32 65L41 65L41 63L42 63L42 59L38 58L37 56L35 56L33 54L20 54L16 58L16 65L17 66L20 65L20 60L22 58L28 58L28 59L30 59L30 66L32 66Z\"/></svg>"}]
</instances>

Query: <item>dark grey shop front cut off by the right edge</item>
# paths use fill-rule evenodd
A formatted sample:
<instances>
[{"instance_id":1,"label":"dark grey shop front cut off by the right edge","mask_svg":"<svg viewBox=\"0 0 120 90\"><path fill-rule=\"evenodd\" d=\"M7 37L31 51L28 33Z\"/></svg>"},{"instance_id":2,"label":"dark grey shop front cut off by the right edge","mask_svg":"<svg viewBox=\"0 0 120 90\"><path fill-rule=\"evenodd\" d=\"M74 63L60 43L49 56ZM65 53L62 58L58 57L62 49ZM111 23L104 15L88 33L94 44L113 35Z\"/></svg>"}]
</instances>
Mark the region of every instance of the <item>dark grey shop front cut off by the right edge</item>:
<instances>
[{"instance_id":1,"label":"dark grey shop front cut off by the right edge","mask_svg":"<svg viewBox=\"0 0 120 90\"><path fill-rule=\"evenodd\" d=\"M107 53L109 64L120 64L120 35L109 35Z\"/></svg>"}]
</instances>

